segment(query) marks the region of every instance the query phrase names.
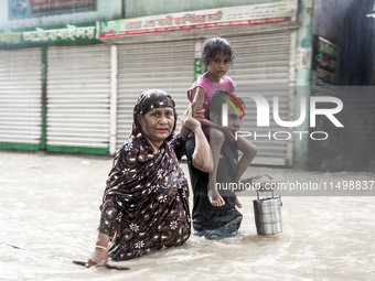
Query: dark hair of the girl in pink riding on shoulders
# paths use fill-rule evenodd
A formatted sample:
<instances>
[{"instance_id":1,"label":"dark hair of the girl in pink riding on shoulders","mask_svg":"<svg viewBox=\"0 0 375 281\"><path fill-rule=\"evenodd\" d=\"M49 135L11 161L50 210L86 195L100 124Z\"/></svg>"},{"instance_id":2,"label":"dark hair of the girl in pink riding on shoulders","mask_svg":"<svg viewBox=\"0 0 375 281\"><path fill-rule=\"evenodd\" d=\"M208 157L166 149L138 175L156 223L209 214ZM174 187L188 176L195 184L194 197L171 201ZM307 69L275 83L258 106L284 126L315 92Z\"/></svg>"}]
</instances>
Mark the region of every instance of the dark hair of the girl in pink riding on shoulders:
<instances>
[{"instance_id":1,"label":"dark hair of the girl in pink riding on shoulders","mask_svg":"<svg viewBox=\"0 0 375 281\"><path fill-rule=\"evenodd\" d=\"M235 60L234 50L231 43L222 37L211 37L203 43L202 47L202 66L203 72L207 71L207 65L210 60L214 58L217 52L223 52L231 61L231 68L233 68L233 63Z\"/></svg>"}]
</instances>

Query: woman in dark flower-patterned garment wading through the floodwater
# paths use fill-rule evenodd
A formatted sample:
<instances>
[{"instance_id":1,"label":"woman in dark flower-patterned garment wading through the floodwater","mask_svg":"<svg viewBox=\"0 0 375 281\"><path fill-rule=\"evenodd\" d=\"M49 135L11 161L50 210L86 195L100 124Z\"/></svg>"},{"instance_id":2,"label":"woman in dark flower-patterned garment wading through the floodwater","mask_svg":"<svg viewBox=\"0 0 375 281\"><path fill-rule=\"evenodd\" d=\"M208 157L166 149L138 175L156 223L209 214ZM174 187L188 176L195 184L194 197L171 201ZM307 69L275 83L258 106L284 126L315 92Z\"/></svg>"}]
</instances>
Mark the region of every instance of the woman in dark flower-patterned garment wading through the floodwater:
<instances>
[{"instance_id":1,"label":"woman in dark flower-patterned garment wading through the floodwater","mask_svg":"<svg viewBox=\"0 0 375 281\"><path fill-rule=\"evenodd\" d=\"M191 108L182 119L194 131L202 164L210 147ZM98 238L87 267L181 246L190 236L189 186L178 159L186 136L174 136L175 105L162 90L142 93L131 136L118 151L104 192ZM205 161L204 161L205 160Z\"/></svg>"}]
</instances>

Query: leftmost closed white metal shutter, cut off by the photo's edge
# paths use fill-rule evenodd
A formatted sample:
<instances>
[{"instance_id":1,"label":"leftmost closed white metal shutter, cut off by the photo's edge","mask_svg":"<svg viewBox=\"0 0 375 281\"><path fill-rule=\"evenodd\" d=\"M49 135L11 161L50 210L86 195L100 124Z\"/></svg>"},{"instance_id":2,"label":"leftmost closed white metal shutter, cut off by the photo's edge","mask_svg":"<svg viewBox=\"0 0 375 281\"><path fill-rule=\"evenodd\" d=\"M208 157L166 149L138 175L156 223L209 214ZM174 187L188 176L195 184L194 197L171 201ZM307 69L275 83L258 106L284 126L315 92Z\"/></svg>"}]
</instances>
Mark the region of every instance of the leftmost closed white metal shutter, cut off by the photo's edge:
<instances>
[{"instance_id":1,"label":"leftmost closed white metal shutter, cut off by the photo's edge","mask_svg":"<svg viewBox=\"0 0 375 281\"><path fill-rule=\"evenodd\" d=\"M41 57L41 48L0 51L0 148L40 147Z\"/></svg>"}]
</instances>

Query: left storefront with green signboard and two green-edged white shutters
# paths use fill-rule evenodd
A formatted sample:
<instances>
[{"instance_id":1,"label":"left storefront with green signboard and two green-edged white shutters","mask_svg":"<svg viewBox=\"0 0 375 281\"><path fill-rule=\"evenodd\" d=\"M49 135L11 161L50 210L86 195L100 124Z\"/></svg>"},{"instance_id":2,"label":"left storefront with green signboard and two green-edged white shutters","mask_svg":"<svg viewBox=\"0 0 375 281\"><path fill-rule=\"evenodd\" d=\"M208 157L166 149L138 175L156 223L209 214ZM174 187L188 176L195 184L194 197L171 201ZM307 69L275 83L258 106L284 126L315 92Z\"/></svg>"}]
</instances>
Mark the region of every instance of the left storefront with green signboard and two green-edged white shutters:
<instances>
[{"instance_id":1,"label":"left storefront with green signboard and two green-edged white shutters","mask_svg":"<svg viewBox=\"0 0 375 281\"><path fill-rule=\"evenodd\" d=\"M110 47L95 23L0 35L0 148L108 153Z\"/></svg>"}]
</instances>

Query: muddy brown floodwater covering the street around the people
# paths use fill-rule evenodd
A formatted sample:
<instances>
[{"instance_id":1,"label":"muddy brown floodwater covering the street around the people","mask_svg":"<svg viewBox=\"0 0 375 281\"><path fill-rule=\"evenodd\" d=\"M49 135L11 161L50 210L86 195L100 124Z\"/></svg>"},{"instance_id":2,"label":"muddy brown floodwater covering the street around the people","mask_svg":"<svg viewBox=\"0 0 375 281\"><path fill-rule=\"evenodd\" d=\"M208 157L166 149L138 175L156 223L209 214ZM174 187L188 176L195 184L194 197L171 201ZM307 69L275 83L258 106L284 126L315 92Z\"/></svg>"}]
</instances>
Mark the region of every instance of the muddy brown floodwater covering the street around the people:
<instances>
[{"instance_id":1,"label":"muddy brown floodwater covering the street around the people","mask_svg":"<svg viewBox=\"0 0 375 281\"><path fill-rule=\"evenodd\" d=\"M180 248L113 262L128 271L73 264L94 249L110 166L107 156L0 151L0 280L375 280L374 174L261 166L247 173L282 174L293 188L354 187L280 191L282 233L275 236L257 235L249 192L239 196L244 220L234 238L192 235Z\"/></svg>"}]
</instances>

